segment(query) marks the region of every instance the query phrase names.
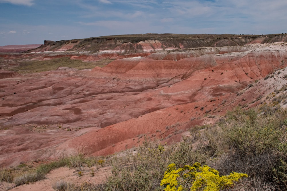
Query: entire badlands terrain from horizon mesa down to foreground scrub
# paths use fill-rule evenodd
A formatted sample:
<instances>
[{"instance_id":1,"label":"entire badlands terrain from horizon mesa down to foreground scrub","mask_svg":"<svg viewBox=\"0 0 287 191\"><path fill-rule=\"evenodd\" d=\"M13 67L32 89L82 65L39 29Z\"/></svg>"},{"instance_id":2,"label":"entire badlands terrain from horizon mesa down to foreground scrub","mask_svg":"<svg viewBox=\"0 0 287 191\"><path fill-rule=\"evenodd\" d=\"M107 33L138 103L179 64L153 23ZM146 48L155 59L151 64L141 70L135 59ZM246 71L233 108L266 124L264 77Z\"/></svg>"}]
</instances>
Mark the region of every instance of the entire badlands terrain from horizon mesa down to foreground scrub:
<instances>
[{"instance_id":1,"label":"entire badlands terrain from horizon mesa down to foreground scrub","mask_svg":"<svg viewBox=\"0 0 287 191\"><path fill-rule=\"evenodd\" d=\"M180 141L195 125L212 124L235 106L260 105L285 86L285 70L273 72L286 67L286 40L142 34L45 41L25 53L2 53L0 164L79 149L106 155L144 136Z\"/></svg>"}]
</instances>

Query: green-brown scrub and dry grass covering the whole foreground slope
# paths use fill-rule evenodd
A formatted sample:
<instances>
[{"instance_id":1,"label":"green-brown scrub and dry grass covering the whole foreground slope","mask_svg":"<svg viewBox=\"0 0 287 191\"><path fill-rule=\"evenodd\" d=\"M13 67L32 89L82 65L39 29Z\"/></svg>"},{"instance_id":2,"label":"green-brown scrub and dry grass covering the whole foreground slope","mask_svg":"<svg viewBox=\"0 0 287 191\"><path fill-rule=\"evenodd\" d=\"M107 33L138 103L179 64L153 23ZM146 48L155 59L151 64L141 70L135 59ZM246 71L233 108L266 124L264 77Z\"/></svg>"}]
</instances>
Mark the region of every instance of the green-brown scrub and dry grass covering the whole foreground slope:
<instances>
[{"instance_id":1,"label":"green-brown scrub and dry grass covering the whole foreground slope","mask_svg":"<svg viewBox=\"0 0 287 191\"><path fill-rule=\"evenodd\" d=\"M287 190L286 128L286 109L276 108L260 115L254 109L234 109L227 112L215 125L192 127L191 136L183 138L180 143L163 146L146 138L135 154L131 150L125 151L125 155L114 155L106 159L89 158L82 154L63 157L59 161L41 164L26 171L23 167L18 167L22 170L1 169L0 180L21 185L43 179L50 170L61 166L74 168L80 176L84 166L101 165L112 166L113 169L112 175L100 185L88 182L73 185L61 181L53 188L163 190L169 183L162 183L162 186L160 184L171 166L174 170L186 171L192 169L189 167L193 164L197 164L196 168L199 169L200 163L208 167L200 168L209 169L206 172L212 171L217 178L228 177L224 175L232 172L238 172L237 175L240 174L241 177L246 177L241 173L248 174L248 178L240 179L235 185L218 187L220 190ZM201 173L202 170L198 172ZM182 190L190 190L195 179L185 181L183 174L177 173L179 176L175 180L180 182ZM204 183L193 190L204 190L206 186ZM179 188L179 184L176 188Z\"/></svg>"}]
</instances>

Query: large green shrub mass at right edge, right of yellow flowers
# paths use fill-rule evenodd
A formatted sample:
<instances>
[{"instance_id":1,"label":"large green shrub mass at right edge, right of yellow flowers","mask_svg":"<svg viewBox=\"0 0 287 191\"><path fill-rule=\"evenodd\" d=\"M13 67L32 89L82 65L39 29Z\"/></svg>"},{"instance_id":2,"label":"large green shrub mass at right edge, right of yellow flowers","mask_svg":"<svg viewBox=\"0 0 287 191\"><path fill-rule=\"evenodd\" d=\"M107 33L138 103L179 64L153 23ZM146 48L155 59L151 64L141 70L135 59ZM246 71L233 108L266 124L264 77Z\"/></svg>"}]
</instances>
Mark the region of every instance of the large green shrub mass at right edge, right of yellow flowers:
<instances>
[{"instance_id":1,"label":"large green shrub mass at right edge, right of yellow flowers","mask_svg":"<svg viewBox=\"0 0 287 191\"><path fill-rule=\"evenodd\" d=\"M283 109L261 116L254 109L228 112L226 123L205 131L210 156L216 159L210 164L223 173L244 172L286 189L286 119Z\"/></svg>"}]
</instances>

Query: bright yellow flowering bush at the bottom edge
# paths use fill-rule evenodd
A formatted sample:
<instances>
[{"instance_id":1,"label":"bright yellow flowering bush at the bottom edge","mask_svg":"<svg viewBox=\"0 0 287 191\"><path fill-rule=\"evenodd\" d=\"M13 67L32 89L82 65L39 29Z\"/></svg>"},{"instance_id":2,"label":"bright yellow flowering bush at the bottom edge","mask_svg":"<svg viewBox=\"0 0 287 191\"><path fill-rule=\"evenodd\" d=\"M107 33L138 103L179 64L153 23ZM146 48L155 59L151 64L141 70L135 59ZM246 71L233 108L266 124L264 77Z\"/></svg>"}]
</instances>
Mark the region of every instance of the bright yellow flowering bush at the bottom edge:
<instances>
[{"instance_id":1,"label":"bright yellow flowering bush at the bottom edge","mask_svg":"<svg viewBox=\"0 0 287 191\"><path fill-rule=\"evenodd\" d=\"M234 182L247 174L232 172L230 175L219 176L219 172L209 166L194 163L176 169L175 164L168 165L160 182L165 186L164 191L219 191L234 186Z\"/></svg>"}]
</instances>

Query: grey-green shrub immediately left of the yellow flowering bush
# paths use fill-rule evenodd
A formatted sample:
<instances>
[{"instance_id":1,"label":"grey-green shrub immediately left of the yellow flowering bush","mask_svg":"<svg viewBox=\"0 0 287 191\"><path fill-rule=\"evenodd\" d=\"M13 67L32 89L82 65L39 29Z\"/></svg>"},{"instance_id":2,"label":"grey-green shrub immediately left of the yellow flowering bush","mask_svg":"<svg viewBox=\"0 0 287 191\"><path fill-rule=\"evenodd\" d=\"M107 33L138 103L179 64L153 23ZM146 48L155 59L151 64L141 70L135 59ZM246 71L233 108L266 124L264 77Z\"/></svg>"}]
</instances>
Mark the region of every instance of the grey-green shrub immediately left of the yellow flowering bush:
<instances>
[{"instance_id":1,"label":"grey-green shrub immediately left of the yellow flowering bush","mask_svg":"<svg viewBox=\"0 0 287 191\"><path fill-rule=\"evenodd\" d=\"M113 158L112 176L102 184L103 190L160 190L165 171L166 152L157 142L145 140L129 161ZM119 163L123 161L123 163Z\"/></svg>"}]
</instances>

